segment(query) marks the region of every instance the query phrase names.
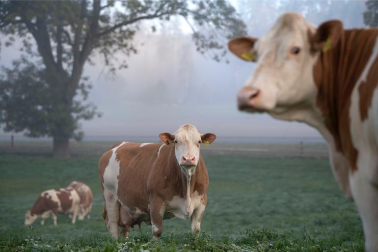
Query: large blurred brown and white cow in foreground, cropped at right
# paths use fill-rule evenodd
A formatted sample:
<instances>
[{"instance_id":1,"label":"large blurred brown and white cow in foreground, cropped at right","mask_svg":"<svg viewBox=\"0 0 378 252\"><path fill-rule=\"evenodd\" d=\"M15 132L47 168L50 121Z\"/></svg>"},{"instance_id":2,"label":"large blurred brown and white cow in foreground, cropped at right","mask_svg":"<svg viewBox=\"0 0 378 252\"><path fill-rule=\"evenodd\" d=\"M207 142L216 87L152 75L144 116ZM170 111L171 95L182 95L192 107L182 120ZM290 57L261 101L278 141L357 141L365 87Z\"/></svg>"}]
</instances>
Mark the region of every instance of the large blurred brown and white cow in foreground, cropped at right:
<instances>
[{"instance_id":1,"label":"large blurred brown and white cow in foreground, cropped at right","mask_svg":"<svg viewBox=\"0 0 378 252\"><path fill-rule=\"evenodd\" d=\"M259 39L229 42L257 66L238 93L239 109L306 122L328 142L334 175L353 198L365 247L378 251L378 29L319 27L288 13Z\"/></svg>"}]
</instances>

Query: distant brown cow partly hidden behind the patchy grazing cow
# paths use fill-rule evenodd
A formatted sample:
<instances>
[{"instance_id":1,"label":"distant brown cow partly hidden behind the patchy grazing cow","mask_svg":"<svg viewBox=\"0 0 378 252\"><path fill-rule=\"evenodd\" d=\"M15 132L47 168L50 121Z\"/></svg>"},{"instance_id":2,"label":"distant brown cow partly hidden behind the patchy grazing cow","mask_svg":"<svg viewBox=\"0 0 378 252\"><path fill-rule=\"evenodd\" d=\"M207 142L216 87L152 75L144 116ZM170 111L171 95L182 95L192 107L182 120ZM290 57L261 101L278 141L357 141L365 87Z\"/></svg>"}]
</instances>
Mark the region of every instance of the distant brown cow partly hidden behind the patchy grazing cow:
<instances>
[{"instance_id":1,"label":"distant brown cow partly hidden behind the patchy grazing cow","mask_svg":"<svg viewBox=\"0 0 378 252\"><path fill-rule=\"evenodd\" d=\"M92 209L93 194L90 187L82 182L72 181L69 187L72 187L80 196L79 204L79 220L84 220L87 215L88 220L90 219L90 211Z\"/></svg>"}]
</instances>

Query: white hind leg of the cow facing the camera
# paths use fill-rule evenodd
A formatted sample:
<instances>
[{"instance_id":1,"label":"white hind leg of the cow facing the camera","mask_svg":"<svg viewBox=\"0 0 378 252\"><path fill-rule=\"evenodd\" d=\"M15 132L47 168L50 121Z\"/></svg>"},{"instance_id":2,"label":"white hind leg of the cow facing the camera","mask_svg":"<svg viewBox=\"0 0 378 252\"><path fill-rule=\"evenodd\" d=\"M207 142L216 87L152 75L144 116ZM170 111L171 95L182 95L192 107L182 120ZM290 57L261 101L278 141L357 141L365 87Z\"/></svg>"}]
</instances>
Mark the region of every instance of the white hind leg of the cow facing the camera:
<instances>
[{"instance_id":1,"label":"white hind leg of the cow facing the camera","mask_svg":"<svg viewBox=\"0 0 378 252\"><path fill-rule=\"evenodd\" d=\"M108 230L110 234L117 239L118 238L118 222L119 222L119 207L120 204L116 197L107 188L104 188L104 198L106 212L108 216Z\"/></svg>"}]
</instances>

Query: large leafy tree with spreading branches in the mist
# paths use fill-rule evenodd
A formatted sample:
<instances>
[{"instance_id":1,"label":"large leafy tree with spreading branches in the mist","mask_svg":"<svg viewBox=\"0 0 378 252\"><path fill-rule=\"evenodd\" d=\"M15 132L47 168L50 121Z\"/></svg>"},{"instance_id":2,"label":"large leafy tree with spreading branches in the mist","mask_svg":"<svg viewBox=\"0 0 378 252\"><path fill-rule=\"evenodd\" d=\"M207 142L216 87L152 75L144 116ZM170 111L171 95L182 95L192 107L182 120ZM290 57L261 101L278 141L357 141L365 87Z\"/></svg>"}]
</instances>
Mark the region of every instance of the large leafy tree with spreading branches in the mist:
<instances>
[{"instance_id":1,"label":"large leafy tree with spreading branches in the mist","mask_svg":"<svg viewBox=\"0 0 378 252\"><path fill-rule=\"evenodd\" d=\"M82 136L79 121L98 114L83 102L90 88L82 77L84 64L101 54L110 71L126 67L114 55L137 52L138 24L173 16L192 28L197 50L217 61L226 54L226 39L245 33L223 0L0 1L2 46L21 39L23 51L0 78L3 129L52 137L53 155L68 157L69 140Z\"/></svg>"}]
</instances>

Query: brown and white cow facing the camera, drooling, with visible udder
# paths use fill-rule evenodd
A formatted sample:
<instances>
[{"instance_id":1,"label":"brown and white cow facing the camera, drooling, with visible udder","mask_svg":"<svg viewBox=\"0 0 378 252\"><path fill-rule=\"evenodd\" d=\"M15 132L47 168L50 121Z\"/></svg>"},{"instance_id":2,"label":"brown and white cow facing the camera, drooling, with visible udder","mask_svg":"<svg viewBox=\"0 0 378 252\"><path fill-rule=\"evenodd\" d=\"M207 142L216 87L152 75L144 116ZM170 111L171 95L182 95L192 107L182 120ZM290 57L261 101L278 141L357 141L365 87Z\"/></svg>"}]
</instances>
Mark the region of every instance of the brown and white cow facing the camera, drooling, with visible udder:
<instances>
[{"instance_id":1,"label":"brown and white cow facing the camera, drooling, with visible udder","mask_svg":"<svg viewBox=\"0 0 378 252\"><path fill-rule=\"evenodd\" d=\"M163 143L118 142L100 158L103 215L115 238L119 225L127 237L130 227L145 222L158 239L162 220L173 217L190 219L191 231L200 231L209 184L200 144L216 136L185 124L159 137Z\"/></svg>"}]
</instances>

